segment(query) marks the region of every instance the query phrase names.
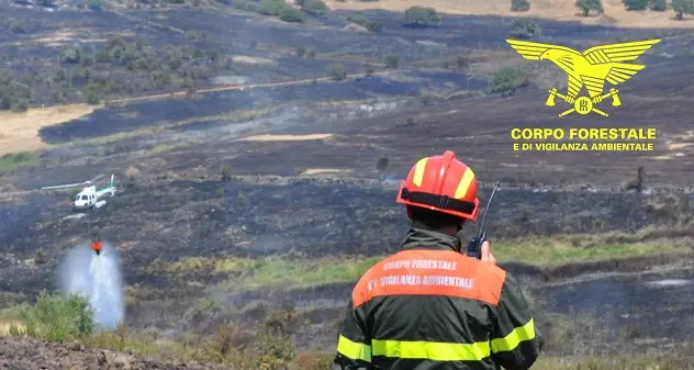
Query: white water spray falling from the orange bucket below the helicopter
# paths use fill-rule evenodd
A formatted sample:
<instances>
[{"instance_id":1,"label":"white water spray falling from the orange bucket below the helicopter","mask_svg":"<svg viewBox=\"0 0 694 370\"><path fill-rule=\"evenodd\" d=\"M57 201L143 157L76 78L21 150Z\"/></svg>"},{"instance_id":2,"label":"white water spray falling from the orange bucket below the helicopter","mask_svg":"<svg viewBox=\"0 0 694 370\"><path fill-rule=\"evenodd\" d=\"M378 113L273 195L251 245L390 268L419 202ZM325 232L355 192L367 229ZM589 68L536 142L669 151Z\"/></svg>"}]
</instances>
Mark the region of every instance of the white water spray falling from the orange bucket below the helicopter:
<instances>
[{"instance_id":1,"label":"white water spray falling from the orange bucket below the helicopter","mask_svg":"<svg viewBox=\"0 0 694 370\"><path fill-rule=\"evenodd\" d=\"M123 322L123 279L117 250L108 243L94 240L91 247L80 244L63 260L59 288L68 294L86 298L101 328L113 329Z\"/></svg>"}]
</instances>

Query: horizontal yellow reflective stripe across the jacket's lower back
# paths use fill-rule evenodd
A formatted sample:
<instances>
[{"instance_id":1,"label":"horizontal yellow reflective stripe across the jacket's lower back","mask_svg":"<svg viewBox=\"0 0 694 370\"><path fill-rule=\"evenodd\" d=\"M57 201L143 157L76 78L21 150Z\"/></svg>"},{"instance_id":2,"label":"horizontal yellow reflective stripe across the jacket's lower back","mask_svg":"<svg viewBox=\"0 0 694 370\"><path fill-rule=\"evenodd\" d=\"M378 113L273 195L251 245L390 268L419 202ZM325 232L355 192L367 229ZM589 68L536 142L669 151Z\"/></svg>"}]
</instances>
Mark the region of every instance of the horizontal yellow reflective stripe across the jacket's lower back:
<instances>
[{"instance_id":1,"label":"horizontal yellow reflective stripe across the jacket's lower back","mask_svg":"<svg viewBox=\"0 0 694 370\"><path fill-rule=\"evenodd\" d=\"M435 361L480 361L490 356L486 341L473 344L372 340L373 356Z\"/></svg>"}]
</instances>

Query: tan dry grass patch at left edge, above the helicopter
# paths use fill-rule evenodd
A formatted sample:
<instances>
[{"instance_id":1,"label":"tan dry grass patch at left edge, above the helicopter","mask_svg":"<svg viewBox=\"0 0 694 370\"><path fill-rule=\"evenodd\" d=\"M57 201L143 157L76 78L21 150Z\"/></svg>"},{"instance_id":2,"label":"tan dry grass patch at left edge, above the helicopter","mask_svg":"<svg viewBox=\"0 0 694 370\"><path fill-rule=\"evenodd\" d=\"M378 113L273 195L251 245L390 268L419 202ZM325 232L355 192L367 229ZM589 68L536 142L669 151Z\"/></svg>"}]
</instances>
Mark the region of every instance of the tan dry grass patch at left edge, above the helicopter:
<instances>
[{"instance_id":1,"label":"tan dry grass patch at left edge, above the helicopter","mask_svg":"<svg viewBox=\"0 0 694 370\"><path fill-rule=\"evenodd\" d=\"M1 112L0 155L32 152L46 147L38 130L79 119L94 111L88 104L56 105L30 109L24 113Z\"/></svg>"}]
</instances>

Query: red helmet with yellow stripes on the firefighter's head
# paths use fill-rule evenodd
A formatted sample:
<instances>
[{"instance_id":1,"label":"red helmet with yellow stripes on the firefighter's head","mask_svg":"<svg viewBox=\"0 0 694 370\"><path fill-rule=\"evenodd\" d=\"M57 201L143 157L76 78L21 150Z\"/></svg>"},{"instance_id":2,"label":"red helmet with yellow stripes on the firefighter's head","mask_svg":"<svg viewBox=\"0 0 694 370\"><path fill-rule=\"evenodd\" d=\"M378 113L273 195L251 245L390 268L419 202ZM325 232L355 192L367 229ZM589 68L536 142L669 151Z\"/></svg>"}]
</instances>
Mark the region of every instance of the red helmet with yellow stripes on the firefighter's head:
<instances>
[{"instance_id":1,"label":"red helmet with yellow stripes on the firefighter's head","mask_svg":"<svg viewBox=\"0 0 694 370\"><path fill-rule=\"evenodd\" d=\"M461 218L477 220L480 200L472 169L446 150L419 159L400 186L398 203L425 208ZM410 210L407 216L412 218Z\"/></svg>"}]
</instances>

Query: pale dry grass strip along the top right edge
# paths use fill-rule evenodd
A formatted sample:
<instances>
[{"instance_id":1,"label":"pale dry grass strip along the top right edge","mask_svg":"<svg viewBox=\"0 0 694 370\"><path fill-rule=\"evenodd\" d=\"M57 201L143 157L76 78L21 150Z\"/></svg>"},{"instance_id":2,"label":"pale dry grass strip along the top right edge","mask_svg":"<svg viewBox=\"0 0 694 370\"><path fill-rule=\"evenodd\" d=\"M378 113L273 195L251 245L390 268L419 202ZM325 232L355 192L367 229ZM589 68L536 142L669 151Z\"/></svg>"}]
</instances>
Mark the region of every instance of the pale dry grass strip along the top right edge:
<instances>
[{"instance_id":1,"label":"pale dry grass strip along the top right edge","mask_svg":"<svg viewBox=\"0 0 694 370\"><path fill-rule=\"evenodd\" d=\"M413 5L422 5L432 7L439 12L449 14L539 16L559 21L581 21L585 24L611 23L623 27L694 27L694 20L691 16L684 21L676 21L673 19L674 12L671 10L664 12L626 11L622 0L603 0L604 14L587 18L580 16L579 10L574 7L574 0L533 0L528 12L512 12L511 0L380 0L377 2L327 0L327 3L332 9L345 10L404 11Z\"/></svg>"}]
</instances>

